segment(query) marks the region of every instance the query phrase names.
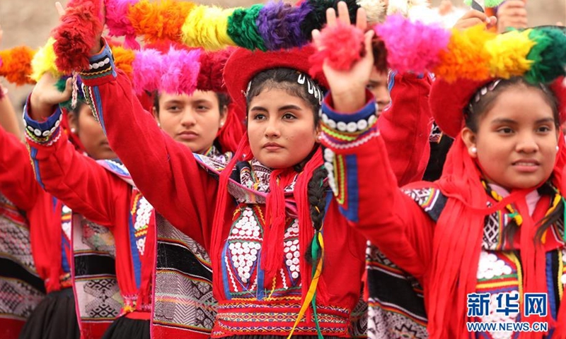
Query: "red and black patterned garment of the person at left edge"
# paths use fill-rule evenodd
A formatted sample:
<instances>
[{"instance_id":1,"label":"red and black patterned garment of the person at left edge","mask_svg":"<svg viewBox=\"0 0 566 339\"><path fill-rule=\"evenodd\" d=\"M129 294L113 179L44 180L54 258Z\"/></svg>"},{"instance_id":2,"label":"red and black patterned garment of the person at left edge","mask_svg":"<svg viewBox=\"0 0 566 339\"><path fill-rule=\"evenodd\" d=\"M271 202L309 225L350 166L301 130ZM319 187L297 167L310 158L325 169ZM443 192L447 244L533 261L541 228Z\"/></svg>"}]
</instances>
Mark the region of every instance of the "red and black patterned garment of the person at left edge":
<instances>
[{"instance_id":1,"label":"red and black patterned garment of the person at left edge","mask_svg":"<svg viewBox=\"0 0 566 339\"><path fill-rule=\"evenodd\" d=\"M0 129L2 338L17 338L47 292L69 287L68 225L60 201L37 184L25 145ZM8 200L9 199L9 200ZM43 280L43 281L42 281Z\"/></svg>"}]
</instances>

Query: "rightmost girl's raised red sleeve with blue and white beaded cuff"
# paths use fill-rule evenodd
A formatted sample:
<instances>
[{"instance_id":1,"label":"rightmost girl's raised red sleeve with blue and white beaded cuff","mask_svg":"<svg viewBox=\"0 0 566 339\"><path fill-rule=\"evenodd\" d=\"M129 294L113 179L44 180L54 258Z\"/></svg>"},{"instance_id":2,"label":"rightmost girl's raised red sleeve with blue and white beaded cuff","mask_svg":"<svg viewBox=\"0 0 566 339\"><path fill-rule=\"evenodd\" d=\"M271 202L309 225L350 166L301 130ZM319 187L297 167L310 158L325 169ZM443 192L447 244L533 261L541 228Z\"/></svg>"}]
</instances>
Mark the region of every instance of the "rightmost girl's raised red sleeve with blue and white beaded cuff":
<instances>
[{"instance_id":1,"label":"rightmost girl's raised red sleeve with blue and white beaded cuff","mask_svg":"<svg viewBox=\"0 0 566 339\"><path fill-rule=\"evenodd\" d=\"M395 264L422 278L434 222L398 188L386 143L372 118L373 98L354 114L334 112L328 100L322 110L325 167L340 212ZM352 124L352 129L340 131L341 124Z\"/></svg>"}]
</instances>

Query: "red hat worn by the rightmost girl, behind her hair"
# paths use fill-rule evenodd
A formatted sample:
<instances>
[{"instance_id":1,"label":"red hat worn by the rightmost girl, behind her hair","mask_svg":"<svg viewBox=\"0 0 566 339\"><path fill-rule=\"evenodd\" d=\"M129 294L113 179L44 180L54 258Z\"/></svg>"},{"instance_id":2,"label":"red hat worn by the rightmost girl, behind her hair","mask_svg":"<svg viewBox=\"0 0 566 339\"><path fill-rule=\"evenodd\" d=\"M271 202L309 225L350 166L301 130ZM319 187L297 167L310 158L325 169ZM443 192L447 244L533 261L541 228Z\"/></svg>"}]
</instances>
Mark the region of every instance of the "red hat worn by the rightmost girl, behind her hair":
<instances>
[{"instance_id":1,"label":"red hat worn by the rightmost girl, behind her hair","mask_svg":"<svg viewBox=\"0 0 566 339\"><path fill-rule=\"evenodd\" d=\"M494 81L491 78L484 81L459 79L448 83L437 78L429 95L429 105L434 121L441 131L456 138L464 126L464 110L470 104L473 95L483 86ZM558 100L560 124L566 120L566 87L564 77L557 78L550 86Z\"/></svg>"}]
</instances>

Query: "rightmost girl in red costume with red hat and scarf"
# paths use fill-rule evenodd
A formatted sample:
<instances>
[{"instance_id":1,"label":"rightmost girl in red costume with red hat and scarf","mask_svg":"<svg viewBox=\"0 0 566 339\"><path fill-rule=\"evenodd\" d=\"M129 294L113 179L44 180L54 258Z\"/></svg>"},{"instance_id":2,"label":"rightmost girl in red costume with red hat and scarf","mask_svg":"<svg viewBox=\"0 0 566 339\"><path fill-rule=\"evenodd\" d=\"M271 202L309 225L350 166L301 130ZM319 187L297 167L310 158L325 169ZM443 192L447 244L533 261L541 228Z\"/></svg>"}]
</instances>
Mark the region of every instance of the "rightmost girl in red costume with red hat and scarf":
<instances>
[{"instance_id":1,"label":"rightmost girl in red costume with red hat and scarf","mask_svg":"<svg viewBox=\"0 0 566 339\"><path fill-rule=\"evenodd\" d=\"M563 53L563 44L550 45L553 55ZM555 67L546 68L558 78L551 85L522 77L437 79L432 114L456 140L436 182L400 190L386 153L376 153L383 160L374 168L381 203L357 228L424 287L430 338L565 338L566 154L559 126L566 91L563 66ZM488 313L466 309L473 293L489 294ZM525 293L547 294L547 314L527 317ZM497 311L507 303L516 311ZM547 322L548 332L470 333L466 322L473 321Z\"/></svg>"}]
</instances>

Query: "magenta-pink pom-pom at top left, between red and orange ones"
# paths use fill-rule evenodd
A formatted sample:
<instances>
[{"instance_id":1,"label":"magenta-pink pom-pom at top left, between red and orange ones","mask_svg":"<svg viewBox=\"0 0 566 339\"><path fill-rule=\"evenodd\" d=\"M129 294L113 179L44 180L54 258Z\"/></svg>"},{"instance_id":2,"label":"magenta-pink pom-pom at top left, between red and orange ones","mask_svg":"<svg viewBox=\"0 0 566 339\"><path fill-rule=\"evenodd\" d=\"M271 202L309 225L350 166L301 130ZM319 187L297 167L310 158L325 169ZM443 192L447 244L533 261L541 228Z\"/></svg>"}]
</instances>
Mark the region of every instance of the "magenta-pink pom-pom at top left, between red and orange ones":
<instances>
[{"instance_id":1,"label":"magenta-pink pom-pom at top left, between red and orange ones","mask_svg":"<svg viewBox=\"0 0 566 339\"><path fill-rule=\"evenodd\" d=\"M111 37L125 36L125 47L139 49L136 41L136 32L127 16L129 6L136 4L138 0L105 0L106 25L108 35Z\"/></svg>"}]
</instances>

